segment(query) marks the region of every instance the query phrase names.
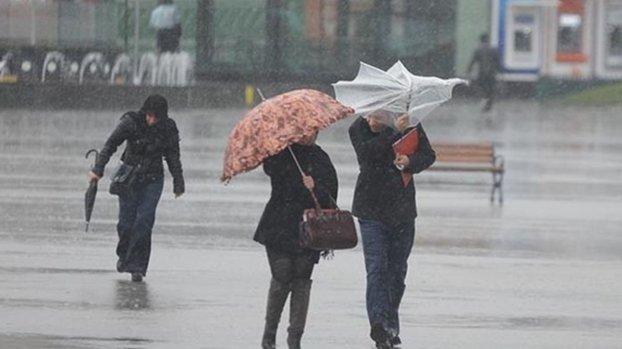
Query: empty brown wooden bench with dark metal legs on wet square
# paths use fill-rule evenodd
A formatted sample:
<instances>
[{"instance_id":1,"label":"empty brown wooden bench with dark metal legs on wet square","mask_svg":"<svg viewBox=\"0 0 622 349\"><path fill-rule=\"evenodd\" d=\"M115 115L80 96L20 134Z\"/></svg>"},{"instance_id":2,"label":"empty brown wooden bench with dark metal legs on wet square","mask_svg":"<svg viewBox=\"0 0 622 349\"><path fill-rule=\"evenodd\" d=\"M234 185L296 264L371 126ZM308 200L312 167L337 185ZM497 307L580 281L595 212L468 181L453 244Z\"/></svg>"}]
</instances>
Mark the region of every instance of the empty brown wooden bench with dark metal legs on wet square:
<instances>
[{"instance_id":1,"label":"empty brown wooden bench with dark metal legs on wet square","mask_svg":"<svg viewBox=\"0 0 622 349\"><path fill-rule=\"evenodd\" d=\"M432 143L436 161L427 171L468 171L490 172L493 175L493 189L490 202L494 203L494 193L499 191L499 204L503 204L503 156L494 153L492 143Z\"/></svg>"}]
</instances>

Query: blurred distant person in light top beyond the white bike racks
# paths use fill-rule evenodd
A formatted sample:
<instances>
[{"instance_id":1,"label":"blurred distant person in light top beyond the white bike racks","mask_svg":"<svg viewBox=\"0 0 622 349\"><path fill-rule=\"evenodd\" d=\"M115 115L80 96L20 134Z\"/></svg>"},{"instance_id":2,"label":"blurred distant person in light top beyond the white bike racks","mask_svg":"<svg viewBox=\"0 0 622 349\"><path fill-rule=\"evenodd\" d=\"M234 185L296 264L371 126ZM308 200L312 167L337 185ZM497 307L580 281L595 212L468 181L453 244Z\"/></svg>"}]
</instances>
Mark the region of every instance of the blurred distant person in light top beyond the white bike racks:
<instances>
[{"instance_id":1,"label":"blurred distant person in light top beyond the white bike racks","mask_svg":"<svg viewBox=\"0 0 622 349\"><path fill-rule=\"evenodd\" d=\"M178 52L182 37L182 17L173 0L158 0L158 6L151 12L149 25L157 30L159 53Z\"/></svg>"}]
</instances>

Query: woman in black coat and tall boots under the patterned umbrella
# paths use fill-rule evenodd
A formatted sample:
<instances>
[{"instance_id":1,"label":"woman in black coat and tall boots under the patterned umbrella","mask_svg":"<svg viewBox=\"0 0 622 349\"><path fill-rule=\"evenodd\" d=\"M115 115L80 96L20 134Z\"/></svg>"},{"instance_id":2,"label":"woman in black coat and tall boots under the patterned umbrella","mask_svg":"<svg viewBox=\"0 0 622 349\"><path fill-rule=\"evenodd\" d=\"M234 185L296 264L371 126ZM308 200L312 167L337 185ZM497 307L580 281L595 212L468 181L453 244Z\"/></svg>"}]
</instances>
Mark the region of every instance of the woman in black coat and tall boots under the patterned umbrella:
<instances>
[{"instance_id":1,"label":"woman in black coat and tall boots under the patterned umbrella","mask_svg":"<svg viewBox=\"0 0 622 349\"><path fill-rule=\"evenodd\" d=\"M276 331L287 296L290 296L287 345L300 348L309 309L311 274L320 252L300 247L299 226L305 209L314 207L313 191L322 208L335 207L337 172L322 148L317 133L291 146L302 176L289 149L267 158L264 172L270 176L272 193L259 221L254 240L265 245L272 273L266 307L263 349L274 349Z\"/></svg>"}]
</instances>

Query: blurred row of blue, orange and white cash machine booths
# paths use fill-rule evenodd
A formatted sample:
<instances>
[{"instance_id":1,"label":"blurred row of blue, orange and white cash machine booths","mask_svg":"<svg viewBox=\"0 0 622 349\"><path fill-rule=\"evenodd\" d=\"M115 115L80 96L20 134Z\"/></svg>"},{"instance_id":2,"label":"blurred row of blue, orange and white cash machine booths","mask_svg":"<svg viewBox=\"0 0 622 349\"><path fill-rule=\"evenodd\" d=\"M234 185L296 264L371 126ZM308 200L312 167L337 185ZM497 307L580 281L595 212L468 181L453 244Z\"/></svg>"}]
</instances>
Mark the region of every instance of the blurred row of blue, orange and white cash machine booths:
<instances>
[{"instance_id":1,"label":"blurred row of blue, orange and white cash machine booths","mask_svg":"<svg viewBox=\"0 0 622 349\"><path fill-rule=\"evenodd\" d=\"M508 81L622 78L622 1L493 0Z\"/></svg>"}]
</instances>

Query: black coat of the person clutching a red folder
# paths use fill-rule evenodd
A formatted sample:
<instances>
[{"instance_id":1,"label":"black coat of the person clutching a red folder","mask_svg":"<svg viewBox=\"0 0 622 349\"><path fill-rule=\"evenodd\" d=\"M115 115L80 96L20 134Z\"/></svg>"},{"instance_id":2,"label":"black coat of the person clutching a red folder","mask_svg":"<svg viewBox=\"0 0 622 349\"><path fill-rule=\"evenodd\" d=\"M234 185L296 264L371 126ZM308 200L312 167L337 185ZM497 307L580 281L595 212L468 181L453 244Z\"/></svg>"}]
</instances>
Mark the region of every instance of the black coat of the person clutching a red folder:
<instances>
[{"instance_id":1,"label":"black coat of the person clutching a red folder","mask_svg":"<svg viewBox=\"0 0 622 349\"><path fill-rule=\"evenodd\" d=\"M409 155L411 165L404 169L409 173L419 173L436 160L434 149L420 124L417 130L419 150ZM360 168L352 204L352 214L356 217L389 225L412 222L417 217L414 179L404 186L399 170L393 165L392 143L408 131L400 133L386 127L375 133L363 117L350 125L350 140Z\"/></svg>"}]
</instances>

